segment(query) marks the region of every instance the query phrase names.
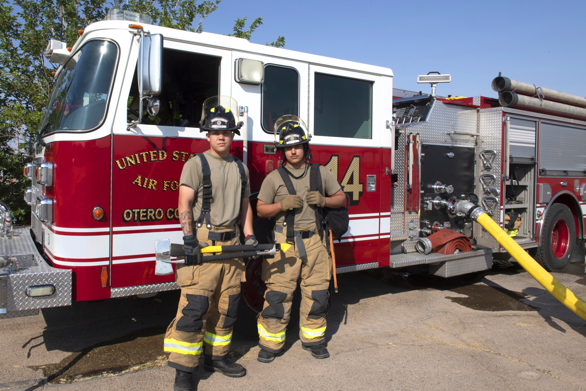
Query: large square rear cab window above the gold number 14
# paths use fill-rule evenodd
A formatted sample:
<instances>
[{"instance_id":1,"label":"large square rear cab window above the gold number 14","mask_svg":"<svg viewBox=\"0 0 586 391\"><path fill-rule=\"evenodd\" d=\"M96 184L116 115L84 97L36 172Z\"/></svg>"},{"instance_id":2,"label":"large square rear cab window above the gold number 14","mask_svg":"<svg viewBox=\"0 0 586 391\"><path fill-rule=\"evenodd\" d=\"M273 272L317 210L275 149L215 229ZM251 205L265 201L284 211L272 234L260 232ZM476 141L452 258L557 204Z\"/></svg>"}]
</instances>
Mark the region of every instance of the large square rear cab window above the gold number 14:
<instances>
[{"instance_id":1,"label":"large square rear cab window above the gold number 14","mask_svg":"<svg viewBox=\"0 0 586 391\"><path fill-rule=\"evenodd\" d=\"M372 139L372 82L315 73L313 133Z\"/></svg>"}]
</instances>

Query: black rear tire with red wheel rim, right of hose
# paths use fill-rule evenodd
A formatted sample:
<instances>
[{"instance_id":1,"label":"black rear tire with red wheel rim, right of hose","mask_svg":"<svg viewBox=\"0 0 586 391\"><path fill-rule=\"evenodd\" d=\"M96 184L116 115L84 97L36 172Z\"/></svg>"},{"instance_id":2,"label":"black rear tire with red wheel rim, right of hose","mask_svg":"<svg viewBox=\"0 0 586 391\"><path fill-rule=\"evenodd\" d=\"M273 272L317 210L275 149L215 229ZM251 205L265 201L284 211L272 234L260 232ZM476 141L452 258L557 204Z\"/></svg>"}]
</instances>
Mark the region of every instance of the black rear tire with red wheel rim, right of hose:
<instances>
[{"instance_id":1,"label":"black rear tire with red wheel rim, right of hose","mask_svg":"<svg viewBox=\"0 0 586 391\"><path fill-rule=\"evenodd\" d=\"M576 238L574 215L564 204L553 204L543 220L541 245L535 260L547 271L560 271L570 265Z\"/></svg>"}]
</instances>

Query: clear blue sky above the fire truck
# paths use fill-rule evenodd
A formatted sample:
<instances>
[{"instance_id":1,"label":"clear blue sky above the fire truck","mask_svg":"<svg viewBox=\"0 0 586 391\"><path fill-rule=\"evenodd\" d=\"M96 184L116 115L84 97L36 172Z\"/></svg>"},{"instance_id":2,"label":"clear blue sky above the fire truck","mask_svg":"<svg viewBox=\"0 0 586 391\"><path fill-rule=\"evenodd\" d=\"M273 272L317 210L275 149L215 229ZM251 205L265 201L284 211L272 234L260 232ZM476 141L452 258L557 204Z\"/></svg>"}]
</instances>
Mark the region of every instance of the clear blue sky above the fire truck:
<instances>
[{"instance_id":1,"label":"clear blue sky above the fire truck","mask_svg":"<svg viewBox=\"0 0 586 391\"><path fill-rule=\"evenodd\" d=\"M510 79L586 96L586 0L223 0L205 31L229 33L236 18L264 25L251 42L391 68L393 87L430 92L417 75L451 73L438 95L491 96Z\"/></svg>"}]
</instances>

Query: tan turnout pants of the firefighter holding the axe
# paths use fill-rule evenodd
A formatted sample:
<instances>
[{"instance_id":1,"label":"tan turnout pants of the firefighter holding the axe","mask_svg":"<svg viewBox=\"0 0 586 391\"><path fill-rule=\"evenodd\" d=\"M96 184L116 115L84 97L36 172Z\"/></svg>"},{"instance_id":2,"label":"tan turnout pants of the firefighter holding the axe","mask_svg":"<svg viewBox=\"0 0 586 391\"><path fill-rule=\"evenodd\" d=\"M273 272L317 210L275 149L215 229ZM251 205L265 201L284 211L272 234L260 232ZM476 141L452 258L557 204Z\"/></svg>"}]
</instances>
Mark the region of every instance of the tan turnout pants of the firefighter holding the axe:
<instances>
[{"instance_id":1,"label":"tan turnout pants of the firefighter holding the axe","mask_svg":"<svg viewBox=\"0 0 586 391\"><path fill-rule=\"evenodd\" d=\"M233 227L212 227L211 231L226 232ZM209 245L240 244L239 230L228 241L207 239L205 225L197 229L200 243ZM206 255L204 255L205 257ZM244 279L242 259L204 262L201 265L178 264L175 272L181 286L177 315L167 328L164 350L171 352L169 366L192 372L199 365L205 349L212 359L223 359L230 350L232 328L240 301L240 282Z\"/></svg>"}]
</instances>

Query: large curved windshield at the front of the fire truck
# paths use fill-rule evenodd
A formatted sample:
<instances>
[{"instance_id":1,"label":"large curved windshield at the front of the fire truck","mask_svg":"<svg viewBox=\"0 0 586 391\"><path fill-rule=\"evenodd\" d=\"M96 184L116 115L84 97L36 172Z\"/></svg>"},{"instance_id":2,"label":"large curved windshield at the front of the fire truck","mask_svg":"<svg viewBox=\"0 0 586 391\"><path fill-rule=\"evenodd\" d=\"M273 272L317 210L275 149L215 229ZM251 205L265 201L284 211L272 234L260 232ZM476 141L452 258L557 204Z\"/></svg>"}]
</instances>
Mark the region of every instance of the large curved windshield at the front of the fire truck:
<instances>
[{"instance_id":1,"label":"large curved windshield at the front of the fire truck","mask_svg":"<svg viewBox=\"0 0 586 391\"><path fill-rule=\"evenodd\" d=\"M47 105L42 133L88 130L101 123L117 56L113 42L89 41L67 60Z\"/></svg>"}]
</instances>

